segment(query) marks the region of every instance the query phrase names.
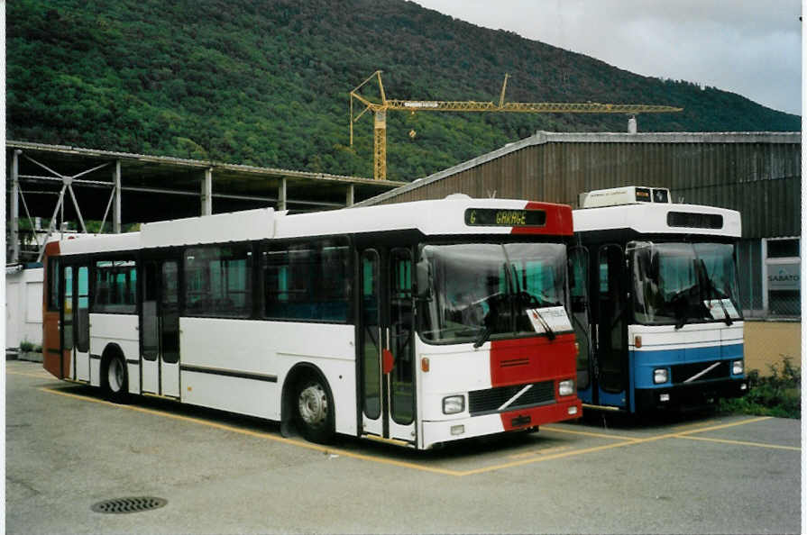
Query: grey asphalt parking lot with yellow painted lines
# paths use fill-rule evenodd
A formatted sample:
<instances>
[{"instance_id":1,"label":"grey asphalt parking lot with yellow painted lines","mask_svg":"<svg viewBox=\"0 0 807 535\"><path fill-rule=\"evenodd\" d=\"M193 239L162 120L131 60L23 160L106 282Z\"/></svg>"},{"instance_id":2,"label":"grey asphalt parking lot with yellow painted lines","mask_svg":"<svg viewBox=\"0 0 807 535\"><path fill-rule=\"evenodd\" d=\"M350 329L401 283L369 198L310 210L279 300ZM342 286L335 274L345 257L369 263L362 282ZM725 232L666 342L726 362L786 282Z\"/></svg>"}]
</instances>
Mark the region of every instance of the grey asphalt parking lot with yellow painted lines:
<instances>
[{"instance_id":1,"label":"grey asphalt parking lot with yellow painted lines","mask_svg":"<svg viewBox=\"0 0 807 535\"><path fill-rule=\"evenodd\" d=\"M9 533L797 533L801 422L608 413L411 451L6 363ZM160 508L103 513L114 498Z\"/></svg>"}]
</instances>

